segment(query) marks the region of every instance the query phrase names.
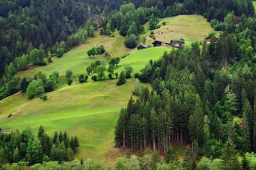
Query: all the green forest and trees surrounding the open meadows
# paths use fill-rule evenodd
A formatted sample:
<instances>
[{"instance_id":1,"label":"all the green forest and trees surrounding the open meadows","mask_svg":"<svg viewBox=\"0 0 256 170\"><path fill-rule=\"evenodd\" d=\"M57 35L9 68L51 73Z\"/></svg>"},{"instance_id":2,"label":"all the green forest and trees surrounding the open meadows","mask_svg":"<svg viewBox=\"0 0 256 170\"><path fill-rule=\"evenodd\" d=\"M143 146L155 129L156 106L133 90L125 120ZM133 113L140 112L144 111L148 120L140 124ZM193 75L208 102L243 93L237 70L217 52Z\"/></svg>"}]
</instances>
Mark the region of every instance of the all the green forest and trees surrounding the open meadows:
<instances>
[{"instance_id":1,"label":"all the green forest and trees surrounding the open meadows","mask_svg":"<svg viewBox=\"0 0 256 170\"><path fill-rule=\"evenodd\" d=\"M49 77L42 71L33 78L15 74L61 58L98 30L108 36L118 31L124 45L134 48L146 22L154 30L159 18L184 14L203 15L221 33L212 33L209 43L173 48L134 74L136 97L122 108L115 127L115 145L128 150L127 157L118 157L115 168L256 169L256 19L250 0L1 1L0 100L19 90L29 100L56 90L58 71ZM239 25L234 25L236 17ZM96 53L110 57L104 46L88 50L89 57ZM109 79L119 62L119 57L109 61ZM89 76L97 74L94 81L106 71L99 60L86 67ZM123 85L132 71L127 66L119 76L115 73L116 85ZM72 74L66 72L68 85ZM79 76L79 83L87 80ZM182 159L172 143L187 146ZM0 146L3 169L109 168L91 159L74 160L77 137L67 132L51 137L42 126L36 135L31 127L1 133Z\"/></svg>"}]
</instances>

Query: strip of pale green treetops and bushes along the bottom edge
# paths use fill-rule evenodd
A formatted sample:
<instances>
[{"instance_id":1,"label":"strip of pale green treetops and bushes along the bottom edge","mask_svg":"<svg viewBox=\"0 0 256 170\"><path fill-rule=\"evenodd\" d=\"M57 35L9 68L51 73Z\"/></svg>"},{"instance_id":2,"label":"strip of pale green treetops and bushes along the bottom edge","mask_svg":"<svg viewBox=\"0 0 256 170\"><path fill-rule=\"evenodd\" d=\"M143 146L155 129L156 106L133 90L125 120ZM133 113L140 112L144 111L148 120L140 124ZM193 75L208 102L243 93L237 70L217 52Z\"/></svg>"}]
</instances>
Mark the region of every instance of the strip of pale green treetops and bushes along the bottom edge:
<instances>
[{"instance_id":1,"label":"strip of pale green treetops and bushes along the bottom edge","mask_svg":"<svg viewBox=\"0 0 256 170\"><path fill-rule=\"evenodd\" d=\"M152 153L147 150L140 150L137 156L132 155L131 150L127 152L127 157L118 157L115 162L115 169L140 170L140 169L255 169L255 154L246 153L243 157L237 157L234 145L228 142L225 144L224 153L221 159L208 159L202 157L200 162L196 165L195 157L191 152L189 146L186 148L184 159L179 160L177 157L177 150L173 147L168 148L164 160L159 157L157 152ZM99 170L112 169L109 164L95 162L92 159L86 161L81 159L70 162L58 162L44 160L42 164L35 164L28 167L28 163L19 162L13 164L4 164L2 169L84 169L84 170Z\"/></svg>"}]
</instances>

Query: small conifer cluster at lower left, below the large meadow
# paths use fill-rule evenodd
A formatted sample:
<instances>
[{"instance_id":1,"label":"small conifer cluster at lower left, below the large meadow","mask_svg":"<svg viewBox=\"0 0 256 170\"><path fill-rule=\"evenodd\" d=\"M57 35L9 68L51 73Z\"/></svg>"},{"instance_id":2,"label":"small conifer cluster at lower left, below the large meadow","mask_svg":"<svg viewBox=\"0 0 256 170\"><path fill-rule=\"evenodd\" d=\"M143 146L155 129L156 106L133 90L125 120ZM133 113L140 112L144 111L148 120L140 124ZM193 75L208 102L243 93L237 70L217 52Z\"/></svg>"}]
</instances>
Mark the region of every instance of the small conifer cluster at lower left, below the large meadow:
<instances>
[{"instance_id":1,"label":"small conifer cluster at lower left, below the large meadow","mask_svg":"<svg viewBox=\"0 0 256 170\"><path fill-rule=\"evenodd\" d=\"M44 161L56 160L58 162L74 159L79 147L76 136L68 136L67 132L55 132L52 138L40 126L35 136L31 127L24 131L0 134L0 165L18 163L20 165L40 164Z\"/></svg>"}]
</instances>

